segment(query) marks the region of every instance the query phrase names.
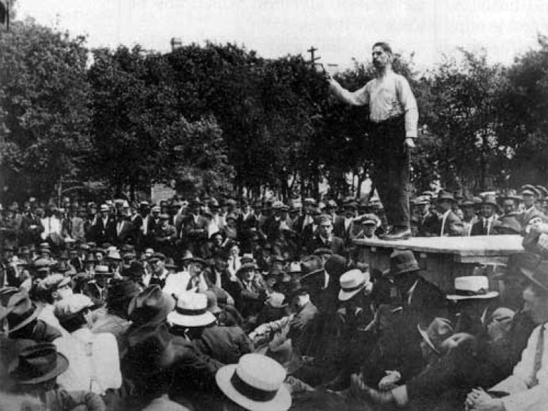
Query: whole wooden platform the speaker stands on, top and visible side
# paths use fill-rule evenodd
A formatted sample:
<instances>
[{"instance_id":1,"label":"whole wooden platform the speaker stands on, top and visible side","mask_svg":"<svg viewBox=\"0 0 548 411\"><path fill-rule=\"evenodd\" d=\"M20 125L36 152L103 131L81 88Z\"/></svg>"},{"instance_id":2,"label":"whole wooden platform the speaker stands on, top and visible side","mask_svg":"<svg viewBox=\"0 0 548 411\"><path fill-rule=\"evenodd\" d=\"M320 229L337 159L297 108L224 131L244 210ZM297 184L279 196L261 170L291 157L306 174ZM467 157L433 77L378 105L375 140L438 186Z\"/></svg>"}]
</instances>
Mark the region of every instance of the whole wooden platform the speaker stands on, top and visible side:
<instances>
[{"instance_id":1,"label":"whole wooden platform the speaker stands on, top and visible side","mask_svg":"<svg viewBox=\"0 0 548 411\"><path fill-rule=\"evenodd\" d=\"M409 240L354 240L360 261L371 268L390 267L393 249L410 249L423 268L423 275L445 292L452 291L453 279L471 275L476 266L506 263L508 256L523 251L520 235L478 235L474 237L412 237Z\"/></svg>"}]
</instances>

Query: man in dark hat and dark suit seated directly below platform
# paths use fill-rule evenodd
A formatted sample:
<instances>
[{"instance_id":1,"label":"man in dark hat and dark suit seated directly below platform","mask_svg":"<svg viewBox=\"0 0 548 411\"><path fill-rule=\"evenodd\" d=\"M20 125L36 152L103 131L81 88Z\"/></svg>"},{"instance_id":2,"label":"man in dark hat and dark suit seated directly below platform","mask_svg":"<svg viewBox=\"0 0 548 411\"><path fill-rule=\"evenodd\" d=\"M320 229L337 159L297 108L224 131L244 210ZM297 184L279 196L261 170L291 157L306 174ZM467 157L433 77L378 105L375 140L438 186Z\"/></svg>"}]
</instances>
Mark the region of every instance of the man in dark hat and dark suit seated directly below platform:
<instances>
[{"instance_id":1,"label":"man in dark hat and dark suit seated directly below platform","mask_svg":"<svg viewBox=\"0 0 548 411\"><path fill-rule=\"evenodd\" d=\"M417 325L426 327L433 318L448 316L445 294L422 278L420 269L410 250L396 250L390 256L388 277L398 289L403 311L383 330L363 365L364 380L373 386L386 370L399 370L404 381L420 372L423 360Z\"/></svg>"}]
</instances>

